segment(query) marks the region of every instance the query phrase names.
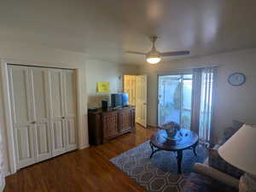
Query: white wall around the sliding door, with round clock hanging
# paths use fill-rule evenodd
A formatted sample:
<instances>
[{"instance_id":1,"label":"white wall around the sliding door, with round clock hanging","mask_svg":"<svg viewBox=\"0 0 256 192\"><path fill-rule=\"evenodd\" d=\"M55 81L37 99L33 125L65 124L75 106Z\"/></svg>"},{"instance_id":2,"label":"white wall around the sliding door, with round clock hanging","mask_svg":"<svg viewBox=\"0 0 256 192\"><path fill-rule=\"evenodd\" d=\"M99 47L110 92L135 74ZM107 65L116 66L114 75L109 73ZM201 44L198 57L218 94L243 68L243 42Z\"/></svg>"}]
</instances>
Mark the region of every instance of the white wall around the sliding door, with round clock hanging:
<instances>
[{"instance_id":1,"label":"white wall around the sliding door, with round clock hanging","mask_svg":"<svg viewBox=\"0 0 256 192\"><path fill-rule=\"evenodd\" d=\"M148 125L157 125L157 75L211 65L218 65L217 103L213 122L215 138L222 136L224 128L231 125L232 119L256 123L256 49L248 49L141 67L141 73L148 74ZM247 77L247 82L238 87L227 82L229 75L236 72L245 73Z\"/></svg>"}]
</instances>

